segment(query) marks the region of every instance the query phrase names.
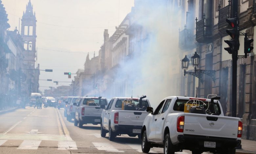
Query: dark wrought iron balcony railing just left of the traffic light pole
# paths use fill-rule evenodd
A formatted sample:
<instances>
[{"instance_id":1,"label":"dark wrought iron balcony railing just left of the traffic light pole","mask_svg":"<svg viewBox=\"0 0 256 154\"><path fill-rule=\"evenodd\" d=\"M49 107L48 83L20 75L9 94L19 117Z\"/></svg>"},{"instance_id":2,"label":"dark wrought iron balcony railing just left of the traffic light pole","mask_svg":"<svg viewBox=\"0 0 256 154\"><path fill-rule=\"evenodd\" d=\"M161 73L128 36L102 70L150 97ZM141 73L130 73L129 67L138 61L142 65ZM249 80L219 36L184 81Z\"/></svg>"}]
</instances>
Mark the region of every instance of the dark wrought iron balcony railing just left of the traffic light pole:
<instances>
[{"instance_id":1,"label":"dark wrought iron balcony railing just left of the traffic light pole","mask_svg":"<svg viewBox=\"0 0 256 154\"><path fill-rule=\"evenodd\" d=\"M230 17L230 1L228 1L228 5L221 9L221 6L219 5L219 23L218 28L221 29L225 26L227 26L226 19Z\"/></svg>"}]
</instances>

